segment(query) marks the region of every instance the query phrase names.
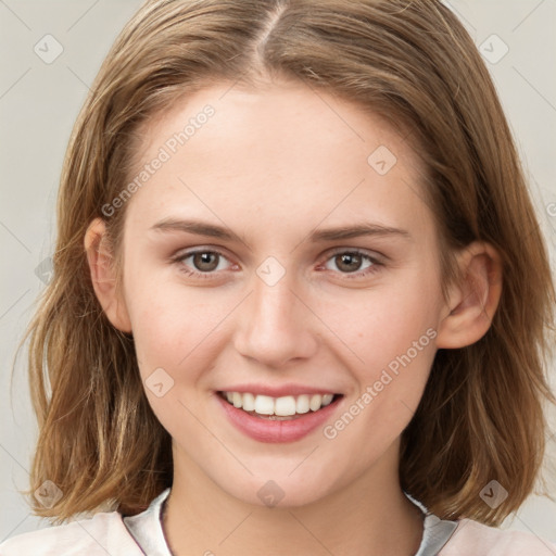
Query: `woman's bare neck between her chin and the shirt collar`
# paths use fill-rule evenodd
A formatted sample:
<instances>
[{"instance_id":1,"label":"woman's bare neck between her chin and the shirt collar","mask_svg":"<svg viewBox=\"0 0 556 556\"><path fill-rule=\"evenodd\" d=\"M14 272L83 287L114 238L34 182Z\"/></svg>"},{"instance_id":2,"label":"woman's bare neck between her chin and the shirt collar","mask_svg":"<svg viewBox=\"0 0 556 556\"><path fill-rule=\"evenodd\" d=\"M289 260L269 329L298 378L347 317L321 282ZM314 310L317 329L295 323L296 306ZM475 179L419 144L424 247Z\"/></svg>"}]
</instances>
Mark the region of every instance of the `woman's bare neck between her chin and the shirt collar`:
<instances>
[{"instance_id":1,"label":"woman's bare neck between her chin and the shirt collar","mask_svg":"<svg viewBox=\"0 0 556 556\"><path fill-rule=\"evenodd\" d=\"M413 556L424 516L403 494L397 466L391 465L397 448L395 443L384 462L313 503L268 507L231 496L174 447L163 518L169 548L174 556L278 556L293 549L299 556Z\"/></svg>"}]
</instances>

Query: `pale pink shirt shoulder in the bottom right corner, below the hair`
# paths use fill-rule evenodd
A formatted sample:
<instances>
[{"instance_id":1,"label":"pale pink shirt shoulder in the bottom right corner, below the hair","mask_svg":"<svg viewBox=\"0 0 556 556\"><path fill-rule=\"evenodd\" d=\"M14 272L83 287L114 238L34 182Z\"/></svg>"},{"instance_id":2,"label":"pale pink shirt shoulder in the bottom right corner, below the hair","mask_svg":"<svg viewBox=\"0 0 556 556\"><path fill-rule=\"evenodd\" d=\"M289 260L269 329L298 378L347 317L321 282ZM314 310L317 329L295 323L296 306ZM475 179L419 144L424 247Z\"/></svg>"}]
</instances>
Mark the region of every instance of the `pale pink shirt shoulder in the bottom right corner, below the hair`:
<instances>
[{"instance_id":1,"label":"pale pink shirt shoulder in the bottom right corner, below the hair","mask_svg":"<svg viewBox=\"0 0 556 556\"><path fill-rule=\"evenodd\" d=\"M504 531L462 519L439 556L556 556L556 544L533 533Z\"/></svg>"}]
</instances>

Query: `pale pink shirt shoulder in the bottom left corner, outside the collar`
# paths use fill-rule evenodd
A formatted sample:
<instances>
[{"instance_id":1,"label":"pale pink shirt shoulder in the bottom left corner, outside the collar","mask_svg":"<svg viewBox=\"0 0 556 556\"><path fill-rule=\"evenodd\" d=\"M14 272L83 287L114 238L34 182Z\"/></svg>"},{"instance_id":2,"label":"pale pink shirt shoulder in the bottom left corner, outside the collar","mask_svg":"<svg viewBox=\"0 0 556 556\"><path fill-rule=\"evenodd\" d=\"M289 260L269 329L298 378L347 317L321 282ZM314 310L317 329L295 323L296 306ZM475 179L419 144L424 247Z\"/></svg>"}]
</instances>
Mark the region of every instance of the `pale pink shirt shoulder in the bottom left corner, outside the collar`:
<instances>
[{"instance_id":1,"label":"pale pink shirt shoulder in the bottom left corner, outside the collar","mask_svg":"<svg viewBox=\"0 0 556 556\"><path fill-rule=\"evenodd\" d=\"M101 511L90 519L47 527L8 539L0 556L142 556L117 511Z\"/></svg>"}]
</instances>

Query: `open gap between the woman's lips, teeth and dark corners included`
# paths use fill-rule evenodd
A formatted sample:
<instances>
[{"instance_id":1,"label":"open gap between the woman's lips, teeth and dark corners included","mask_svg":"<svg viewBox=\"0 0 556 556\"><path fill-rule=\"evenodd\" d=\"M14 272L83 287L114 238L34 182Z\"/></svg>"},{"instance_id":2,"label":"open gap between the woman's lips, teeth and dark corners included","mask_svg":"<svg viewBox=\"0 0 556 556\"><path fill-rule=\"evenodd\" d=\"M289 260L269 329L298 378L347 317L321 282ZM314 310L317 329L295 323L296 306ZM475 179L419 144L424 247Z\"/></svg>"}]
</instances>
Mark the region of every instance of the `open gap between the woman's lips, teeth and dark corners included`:
<instances>
[{"instance_id":1,"label":"open gap between the woman's lips, teeth and dark corners included","mask_svg":"<svg viewBox=\"0 0 556 556\"><path fill-rule=\"evenodd\" d=\"M265 420L286 421L315 414L329 405L336 405L343 394L301 394L271 397L249 392L217 391L227 404L243 413Z\"/></svg>"}]
</instances>

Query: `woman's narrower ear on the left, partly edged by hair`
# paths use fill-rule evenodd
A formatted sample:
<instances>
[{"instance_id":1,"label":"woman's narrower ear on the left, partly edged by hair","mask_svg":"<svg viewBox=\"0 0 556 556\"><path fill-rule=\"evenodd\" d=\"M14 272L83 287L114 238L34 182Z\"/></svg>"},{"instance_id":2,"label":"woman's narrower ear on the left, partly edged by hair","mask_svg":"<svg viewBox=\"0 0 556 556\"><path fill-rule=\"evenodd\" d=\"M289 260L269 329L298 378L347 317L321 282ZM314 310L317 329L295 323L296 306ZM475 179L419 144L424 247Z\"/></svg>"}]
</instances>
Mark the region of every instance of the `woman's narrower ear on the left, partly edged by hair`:
<instances>
[{"instance_id":1,"label":"woman's narrower ear on the left, partly edged by hair","mask_svg":"<svg viewBox=\"0 0 556 556\"><path fill-rule=\"evenodd\" d=\"M94 293L109 320L123 332L131 332L125 300L116 291L114 258L108 249L106 227L101 218L92 220L85 233L85 251L89 262Z\"/></svg>"}]
</instances>

